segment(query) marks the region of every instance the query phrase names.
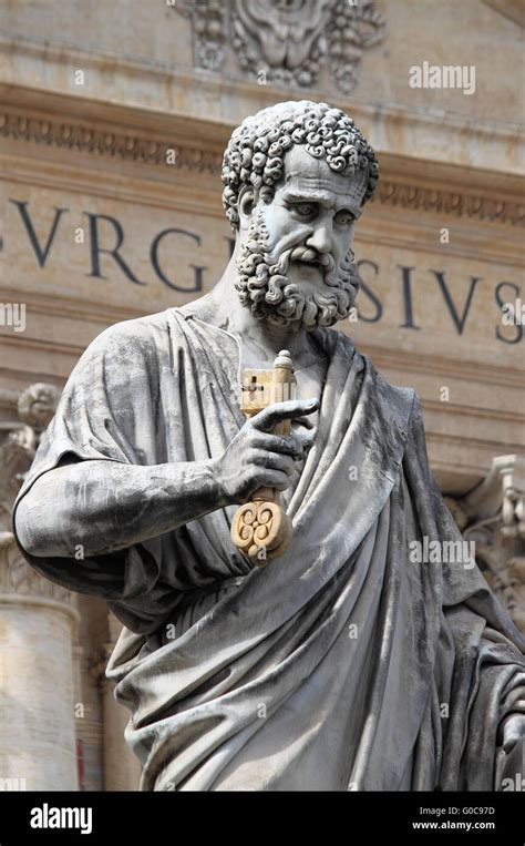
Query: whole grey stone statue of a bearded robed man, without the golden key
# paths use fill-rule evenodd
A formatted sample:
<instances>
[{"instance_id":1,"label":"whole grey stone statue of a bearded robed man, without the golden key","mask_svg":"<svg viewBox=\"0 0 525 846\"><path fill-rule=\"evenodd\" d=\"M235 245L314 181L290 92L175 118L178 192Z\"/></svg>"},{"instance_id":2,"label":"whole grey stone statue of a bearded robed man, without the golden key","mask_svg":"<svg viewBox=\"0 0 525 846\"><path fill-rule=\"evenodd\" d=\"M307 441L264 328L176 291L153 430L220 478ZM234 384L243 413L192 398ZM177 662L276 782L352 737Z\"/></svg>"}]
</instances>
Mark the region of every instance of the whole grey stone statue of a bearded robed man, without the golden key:
<instances>
[{"instance_id":1,"label":"whole grey stone statue of a bearded robed man, without the golden key","mask_svg":"<svg viewBox=\"0 0 525 846\"><path fill-rule=\"evenodd\" d=\"M523 778L523 639L433 481L414 391L332 328L377 181L338 109L245 120L224 156L223 277L89 346L18 497L27 560L124 625L107 675L142 789ZM279 366L294 390L247 416L241 393ZM266 560L231 537L261 489L289 528Z\"/></svg>"}]
</instances>

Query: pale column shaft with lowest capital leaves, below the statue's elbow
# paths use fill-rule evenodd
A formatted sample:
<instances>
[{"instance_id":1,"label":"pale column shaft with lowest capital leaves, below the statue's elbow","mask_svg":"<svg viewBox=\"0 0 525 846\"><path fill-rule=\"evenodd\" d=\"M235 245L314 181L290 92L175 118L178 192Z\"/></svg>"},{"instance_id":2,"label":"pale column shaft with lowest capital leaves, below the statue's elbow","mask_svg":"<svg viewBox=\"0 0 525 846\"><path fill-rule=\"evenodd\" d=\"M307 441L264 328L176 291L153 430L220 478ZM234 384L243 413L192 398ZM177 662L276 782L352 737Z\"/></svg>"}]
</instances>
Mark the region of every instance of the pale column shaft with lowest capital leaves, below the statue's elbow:
<instances>
[{"instance_id":1,"label":"pale column shaft with lowest capital leaves, below the statue's elbow","mask_svg":"<svg viewBox=\"0 0 525 846\"><path fill-rule=\"evenodd\" d=\"M0 778L28 791L78 789L74 598L0 547Z\"/></svg>"}]
</instances>

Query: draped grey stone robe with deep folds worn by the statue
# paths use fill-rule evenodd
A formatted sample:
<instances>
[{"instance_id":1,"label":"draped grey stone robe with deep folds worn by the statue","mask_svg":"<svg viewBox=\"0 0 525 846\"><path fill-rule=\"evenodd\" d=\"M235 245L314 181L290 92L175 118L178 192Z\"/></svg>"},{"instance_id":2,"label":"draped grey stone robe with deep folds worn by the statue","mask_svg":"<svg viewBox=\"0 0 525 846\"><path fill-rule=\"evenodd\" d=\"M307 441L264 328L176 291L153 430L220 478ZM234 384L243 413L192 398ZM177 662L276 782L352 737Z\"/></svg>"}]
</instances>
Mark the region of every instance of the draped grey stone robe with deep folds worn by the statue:
<instances>
[{"instance_id":1,"label":"draped grey stone robe with deep folds worn by the statue","mask_svg":"<svg viewBox=\"0 0 525 846\"><path fill-rule=\"evenodd\" d=\"M233 546L237 506L120 553L25 558L124 624L107 675L143 789L497 788L523 640L472 561L409 558L413 540L461 540L414 393L343 334L313 336L328 370L313 446L282 495L281 558L258 569ZM192 306L110 327L71 375L18 501L64 456L220 456L245 421L239 356ZM74 527L64 533L73 548Z\"/></svg>"}]
</instances>

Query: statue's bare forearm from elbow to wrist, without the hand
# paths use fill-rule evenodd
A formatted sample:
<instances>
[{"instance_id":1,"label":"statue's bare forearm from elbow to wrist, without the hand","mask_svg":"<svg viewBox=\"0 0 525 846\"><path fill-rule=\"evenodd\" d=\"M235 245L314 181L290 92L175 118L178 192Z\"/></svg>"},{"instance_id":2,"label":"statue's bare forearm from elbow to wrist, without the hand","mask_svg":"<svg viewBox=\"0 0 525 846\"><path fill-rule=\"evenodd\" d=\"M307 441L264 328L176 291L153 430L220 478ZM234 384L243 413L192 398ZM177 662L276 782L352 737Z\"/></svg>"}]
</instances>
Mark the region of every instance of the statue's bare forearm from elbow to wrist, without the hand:
<instances>
[{"instance_id":1,"label":"statue's bare forearm from elbow to wrist, without the hand","mask_svg":"<svg viewBox=\"0 0 525 846\"><path fill-rule=\"evenodd\" d=\"M91 557L164 534L227 504L215 460L155 466L80 461L37 479L16 511L23 549Z\"/></svg>"}]
</instances>

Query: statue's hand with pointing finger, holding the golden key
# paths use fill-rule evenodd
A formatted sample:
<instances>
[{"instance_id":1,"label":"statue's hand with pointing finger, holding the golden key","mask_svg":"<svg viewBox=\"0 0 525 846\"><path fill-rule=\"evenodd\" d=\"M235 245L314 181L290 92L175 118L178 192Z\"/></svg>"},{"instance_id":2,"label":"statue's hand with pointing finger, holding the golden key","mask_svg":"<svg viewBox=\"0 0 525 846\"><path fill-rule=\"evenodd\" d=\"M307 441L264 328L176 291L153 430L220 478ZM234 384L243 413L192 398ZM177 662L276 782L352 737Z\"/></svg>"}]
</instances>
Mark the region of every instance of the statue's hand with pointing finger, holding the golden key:
<instances>
[{"instance_id":1,"label":"statue's hand with pointing finger, holding the golden key","mask_svg":"<svg viewBox=\"0 0 525 846\"><path fill-rule=\"evenodd\" d=\"M277 424L311 415L318 408L318 399L290 399L274 402L245 422L217 460L219 488L229 504L249 502L259 488L288 487L294 461L303 458L311 444L271 431Z\"/></svg>"}]
</instances>

